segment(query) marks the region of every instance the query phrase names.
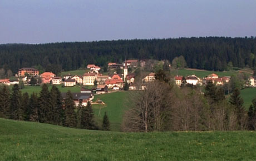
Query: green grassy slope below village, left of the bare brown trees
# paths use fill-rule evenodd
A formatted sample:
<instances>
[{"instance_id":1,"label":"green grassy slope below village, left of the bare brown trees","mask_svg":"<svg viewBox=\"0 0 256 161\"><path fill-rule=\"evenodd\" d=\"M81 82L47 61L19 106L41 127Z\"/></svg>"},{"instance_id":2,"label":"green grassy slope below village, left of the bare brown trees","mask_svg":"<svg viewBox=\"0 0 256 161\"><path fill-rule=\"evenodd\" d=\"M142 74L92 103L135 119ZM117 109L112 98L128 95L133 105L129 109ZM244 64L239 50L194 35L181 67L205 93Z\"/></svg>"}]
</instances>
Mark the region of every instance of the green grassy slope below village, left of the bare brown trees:
<instances>
[{"instance_id":1,"label":"green grassy slope below village, left of the bare brown trees","mask_svg":"<svg viewBox=\"0 0 256 161\"><path fill-rule=\"evenodd\" d=\"M125 110L125 98L128 94L128 92L114 92L95 95L93 102L95 102L97 99L100 99L105 103L105 105L92 105L95 117L99 125L102 123L104 113L107 112L111 124L111 130L120 131L122 114L124 114Z\"/></svg>"}]
</instances>

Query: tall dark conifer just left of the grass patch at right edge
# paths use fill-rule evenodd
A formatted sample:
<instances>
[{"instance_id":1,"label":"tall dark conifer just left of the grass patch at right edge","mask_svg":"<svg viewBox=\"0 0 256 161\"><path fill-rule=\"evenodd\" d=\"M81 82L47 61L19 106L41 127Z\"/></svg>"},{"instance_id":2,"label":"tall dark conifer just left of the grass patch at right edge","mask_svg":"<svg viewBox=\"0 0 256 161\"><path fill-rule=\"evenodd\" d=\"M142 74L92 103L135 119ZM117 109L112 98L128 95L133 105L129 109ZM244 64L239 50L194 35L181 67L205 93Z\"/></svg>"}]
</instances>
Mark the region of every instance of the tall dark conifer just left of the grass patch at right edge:
<instances>
[{"instance_id":1,"label":"tall dark conifer just left of the grass patch at right edge","mask_svg":"<svg viewBox=\"0 0 256 161\"><path fill-rule=\"evenodd\" d=\"M238 88L234 89L232 95L230 96L229 102L235 108L239 129L243 130L245 128L244 126L246 124L245 120L247 116L243 107L244 100L242 97L240 97L240 91Z\"/></svg>"}]
</instances>

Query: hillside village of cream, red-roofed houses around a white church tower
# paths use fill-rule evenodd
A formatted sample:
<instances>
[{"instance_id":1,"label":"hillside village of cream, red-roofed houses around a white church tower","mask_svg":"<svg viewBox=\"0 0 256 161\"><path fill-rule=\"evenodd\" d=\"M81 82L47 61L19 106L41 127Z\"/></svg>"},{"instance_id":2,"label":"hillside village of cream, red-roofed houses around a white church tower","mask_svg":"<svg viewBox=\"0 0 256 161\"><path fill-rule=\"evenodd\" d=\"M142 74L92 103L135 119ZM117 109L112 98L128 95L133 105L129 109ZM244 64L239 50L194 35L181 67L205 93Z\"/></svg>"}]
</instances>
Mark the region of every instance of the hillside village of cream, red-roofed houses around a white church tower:
<instances>
[{"instance_id":1,"label":"hillside village of cream, red-roofed houses around a white church tower","mask_svg":"<svg viewBox=\"0 0 256 161\"><path fill-rule=\"evenodd\" d=\"M80 102L83 105L87 105L88 101L92 101L93 95L104 94L109 92L117 92L119 90L144 90L146 88L145 83L155 80L154 72L147 72L144 75L138 76L136 69L146 68L147 60L128 59L121 64L108 63L108 69L112 71L111 74L103 74L101 67L95 64L87 65L87 72L83 76L67 74L65 76L56 76L52 72L44 72L40 74L40 71L35 68L21 68L18 69L18 73L15 75L17 80L10 80L9 78L0 79L0 84L13 85L23 83L24 85L40 85L43 83L52 85L62 85L65 87L75 87L75 85L81 85L79 93L72 93L73 100L77 106ZM164 63L164 61L160 61ZM150 66L153 66L150 64ZM171 65L169 64L169 68ZM86 70L85 70L86 71ZM130 72L129 72L130 71ZM203 78L199 78L192 74L190 76L174 76L173 81L178 87L182 84L201 86L205 85L208 81L213 82L215 85L224 85L228 83L230 76L219 77L217 74L212 73ZM248 86L255 87L256 79L250 76L248 79ZM126 86L126 87L125 87ZM62 93L62 98L65 99L66 93Z\"/></svg>"}]
</instances>

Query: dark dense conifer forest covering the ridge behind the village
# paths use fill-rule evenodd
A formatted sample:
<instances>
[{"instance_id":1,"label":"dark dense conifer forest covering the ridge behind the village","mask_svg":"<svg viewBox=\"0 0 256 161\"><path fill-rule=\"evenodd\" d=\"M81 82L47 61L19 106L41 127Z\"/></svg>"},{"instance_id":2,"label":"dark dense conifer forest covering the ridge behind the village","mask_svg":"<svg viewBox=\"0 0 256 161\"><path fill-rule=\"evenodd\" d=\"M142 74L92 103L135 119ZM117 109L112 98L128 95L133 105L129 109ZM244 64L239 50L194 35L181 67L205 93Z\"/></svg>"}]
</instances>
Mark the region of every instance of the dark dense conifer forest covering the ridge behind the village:
<instances>
[{"instance_id":1,"label":"dark dense conifer forest covering the ridge behind the village","mask_svg":"<svg viewBox=\"0 0 256 161\"><path fill-rule=\"evenodd\" d=\"M107 66L130 58L173 61L183 56L186 66L223 71L229 66L256 65L256 38L199 37L175 39L134 39L100 42L73 42L51 44L2 44L0 68L36 67L55 73L85 67L88 63ZM229 65L228 65L229 64Z\"/></svg>"}]
</instances>

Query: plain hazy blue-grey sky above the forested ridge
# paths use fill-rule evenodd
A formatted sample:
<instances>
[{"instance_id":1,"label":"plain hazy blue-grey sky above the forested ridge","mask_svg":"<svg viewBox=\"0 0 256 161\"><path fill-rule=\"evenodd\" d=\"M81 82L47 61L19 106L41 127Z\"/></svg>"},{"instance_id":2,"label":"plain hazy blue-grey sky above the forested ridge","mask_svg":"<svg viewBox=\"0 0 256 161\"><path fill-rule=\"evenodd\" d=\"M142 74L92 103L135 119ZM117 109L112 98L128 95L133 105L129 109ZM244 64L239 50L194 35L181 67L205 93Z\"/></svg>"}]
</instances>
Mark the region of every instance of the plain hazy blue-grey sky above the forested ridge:
<instances>
[{"instance_id":1,"label":"plain hazy blue-grey sky above the forested ridge","mask_svg":"<svg viewBox=\"0 0 256 161\"><path fill-rule=\"evenodd\" d=\"M256 1L0 1L0 44L206 36L256 36Z\"/></svg>"}]
</instances>

